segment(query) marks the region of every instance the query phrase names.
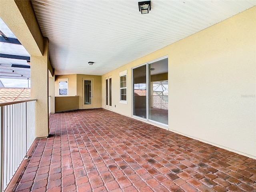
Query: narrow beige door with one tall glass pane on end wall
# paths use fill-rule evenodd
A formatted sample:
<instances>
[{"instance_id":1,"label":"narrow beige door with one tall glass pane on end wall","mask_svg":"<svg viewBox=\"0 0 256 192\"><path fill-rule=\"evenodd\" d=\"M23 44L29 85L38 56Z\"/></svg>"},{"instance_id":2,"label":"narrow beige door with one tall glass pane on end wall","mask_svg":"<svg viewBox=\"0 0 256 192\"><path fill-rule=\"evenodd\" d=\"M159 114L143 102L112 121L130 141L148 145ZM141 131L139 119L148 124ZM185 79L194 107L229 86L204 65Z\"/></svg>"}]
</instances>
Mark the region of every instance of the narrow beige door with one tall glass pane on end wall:
<instances>
[{"instance_id":1,"label":"narrow beige door with one tall glass pane on end wall","mask_svg":"<svg viewBox=\"0 0 256 192\"><path fill-rule=\"evenodd\" d=\"M82 108L91 109L93 108L93 79L82 78Z\"/></svg>"}]
</instances>

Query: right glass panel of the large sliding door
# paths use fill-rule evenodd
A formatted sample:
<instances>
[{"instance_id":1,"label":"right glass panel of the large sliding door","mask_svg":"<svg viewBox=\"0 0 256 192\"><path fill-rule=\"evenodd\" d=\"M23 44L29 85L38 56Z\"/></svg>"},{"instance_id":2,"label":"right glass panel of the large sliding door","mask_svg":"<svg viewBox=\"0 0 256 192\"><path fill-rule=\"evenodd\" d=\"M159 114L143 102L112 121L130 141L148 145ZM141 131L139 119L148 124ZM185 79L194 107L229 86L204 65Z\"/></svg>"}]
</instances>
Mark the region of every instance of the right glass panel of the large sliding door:
<instances>
[{"instance_id":1,"label":"right glass panel of the large sliding door","mask_svg":"<svg viewBox=\"0 0 256 192\"><path fill-rule=\"evenodd\" d=\"M168 58L149 65L148 119L168 124Z\"/></svg>"}]
</instances>

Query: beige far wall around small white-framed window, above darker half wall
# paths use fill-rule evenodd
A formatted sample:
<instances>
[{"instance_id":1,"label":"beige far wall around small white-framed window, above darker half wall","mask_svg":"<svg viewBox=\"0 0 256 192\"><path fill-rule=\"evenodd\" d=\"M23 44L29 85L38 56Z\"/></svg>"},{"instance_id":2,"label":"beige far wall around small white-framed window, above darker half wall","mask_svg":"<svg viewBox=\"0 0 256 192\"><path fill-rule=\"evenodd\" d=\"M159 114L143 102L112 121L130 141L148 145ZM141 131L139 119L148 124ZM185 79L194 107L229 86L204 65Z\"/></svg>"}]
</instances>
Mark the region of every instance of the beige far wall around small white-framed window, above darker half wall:
<instances>
[{"instance_id":1,"label":"beige far wall around small white-framed window, above darker half wall","mask_svg":"<svg viewBox=\"0 0 256 192\"><path fill-rule=\"evenodd\" d=\"M76 96L76 74L70 75L56 75L55 76L55 96L59 96L59 85L60 79L68 79L68 96ZM64 96L63 96L64 97Z\"/></svg>"}]
</instances>

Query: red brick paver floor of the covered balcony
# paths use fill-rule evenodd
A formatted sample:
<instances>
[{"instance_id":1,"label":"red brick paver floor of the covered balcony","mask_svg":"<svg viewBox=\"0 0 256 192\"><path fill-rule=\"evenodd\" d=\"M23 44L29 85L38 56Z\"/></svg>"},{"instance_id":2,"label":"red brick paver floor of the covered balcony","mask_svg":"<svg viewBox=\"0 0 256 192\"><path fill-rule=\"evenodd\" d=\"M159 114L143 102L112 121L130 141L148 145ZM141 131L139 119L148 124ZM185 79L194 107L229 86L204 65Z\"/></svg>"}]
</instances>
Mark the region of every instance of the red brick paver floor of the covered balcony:
<instances>
[{"instance_id":1,"label":"red brick paver floor of the covered balcony","mask_svg":"<svg viewBox=\"0 0 256 192\"><path fill-rule=\"evenodd\" d=\"M50 127L15 191L256 191L256 160L108 110L52 114Z\"/></svg>"}]
</instances>

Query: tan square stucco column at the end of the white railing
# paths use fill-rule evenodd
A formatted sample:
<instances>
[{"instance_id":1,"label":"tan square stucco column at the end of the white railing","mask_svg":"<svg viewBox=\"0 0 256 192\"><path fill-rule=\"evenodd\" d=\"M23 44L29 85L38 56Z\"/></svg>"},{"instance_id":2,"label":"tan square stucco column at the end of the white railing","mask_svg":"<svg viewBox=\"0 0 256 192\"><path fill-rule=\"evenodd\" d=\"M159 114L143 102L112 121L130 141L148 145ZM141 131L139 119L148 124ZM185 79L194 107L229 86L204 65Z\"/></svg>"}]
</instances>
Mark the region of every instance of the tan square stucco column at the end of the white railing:
<instances>
[{"instance_id":1,"label":"tan square stucco column at the end of the white railing","mask_svg":"<svg viewBox=\"0 0 256 192\"><path fill-rule=\"evenodd\" d=\"M37 138L49 134L48 121L48 39L44 38L43 56L31 56L31 98L35 104L35 132Z\"/></svg>"}]
</instances>

